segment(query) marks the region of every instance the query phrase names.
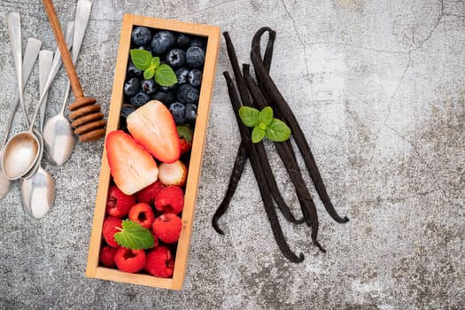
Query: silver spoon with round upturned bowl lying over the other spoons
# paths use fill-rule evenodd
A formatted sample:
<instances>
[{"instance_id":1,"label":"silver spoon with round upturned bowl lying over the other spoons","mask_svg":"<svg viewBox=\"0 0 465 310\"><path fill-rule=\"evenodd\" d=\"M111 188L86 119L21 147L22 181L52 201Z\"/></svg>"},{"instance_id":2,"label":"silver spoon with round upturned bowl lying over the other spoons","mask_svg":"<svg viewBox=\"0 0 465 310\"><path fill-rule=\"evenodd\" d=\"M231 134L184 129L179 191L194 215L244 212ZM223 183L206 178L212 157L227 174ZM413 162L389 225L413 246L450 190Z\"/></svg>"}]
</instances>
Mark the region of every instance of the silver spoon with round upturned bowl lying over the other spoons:
<instances>
[{"instance_id":1,"label":"silver spoon with round upturned bowl lying over the other spoons","mask_svg":"<svg viewBox=\"0 0 465 310\"><path fill-rule=\"evenodd\" d=\"M74 22L71 21L66 27L66 38L70 37L72 41L73 30L70 29L70 25ZM66 42L67 43L67 42ZM68 43L68 47L71 43ZM20 50L19 50L20 52ZM54 75L58 72L59 64L55 67L52 65L52 72L50 72L47 81L45 82L45 89L49 89L51 81ZM54 73L54 71L56 72ZM21 96L22 97L22 96ZM22 131L14 136L4 146L3 157L2 157L2 169L4 170L5 176L10 180L17 180L20 177L28 177L35 172L35 168L38 168L37 160L42 156L43 153L43 138L42 135L36 135L34 132L35 119L43 104L45 92L41 94L39 102L35 107L35 112L29 128L26 131ZM19 99L19 101L21 101Z\"/></svg>"}]
</instances>

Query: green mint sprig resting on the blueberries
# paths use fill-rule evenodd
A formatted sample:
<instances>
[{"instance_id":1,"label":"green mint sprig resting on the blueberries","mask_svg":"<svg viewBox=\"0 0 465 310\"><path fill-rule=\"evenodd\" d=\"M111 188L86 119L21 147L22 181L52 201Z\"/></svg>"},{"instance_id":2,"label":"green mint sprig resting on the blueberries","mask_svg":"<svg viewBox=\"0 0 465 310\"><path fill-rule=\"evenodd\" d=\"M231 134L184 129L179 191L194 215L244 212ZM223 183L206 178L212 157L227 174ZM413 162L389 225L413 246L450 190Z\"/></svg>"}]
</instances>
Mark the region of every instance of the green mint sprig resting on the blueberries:
<instances>
[{"instance_id":1,"label":"green mint sprig resting on the blueberries","mask_svg":"<svg viewBox=\"0 0 465 310\"><path fill-rule=\"evenodd\" d=\"M171 66L160 65L159 57L152 57L150 51L135 49L129 53L134 66L143 70L145 80L155 77L155 81L161 86L171 86L178 81Z\"/></svg>"}]
</instances>

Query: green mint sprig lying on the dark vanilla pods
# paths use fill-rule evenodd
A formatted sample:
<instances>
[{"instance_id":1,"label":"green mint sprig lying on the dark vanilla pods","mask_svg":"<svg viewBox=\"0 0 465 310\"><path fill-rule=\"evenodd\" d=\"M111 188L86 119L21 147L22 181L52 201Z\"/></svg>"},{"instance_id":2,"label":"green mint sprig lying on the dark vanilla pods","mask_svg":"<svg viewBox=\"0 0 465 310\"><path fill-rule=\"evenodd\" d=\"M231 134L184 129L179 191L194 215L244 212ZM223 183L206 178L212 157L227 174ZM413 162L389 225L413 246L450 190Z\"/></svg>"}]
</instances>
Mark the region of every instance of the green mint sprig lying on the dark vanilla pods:
<instances>
[{"instance_id":1,"label":"green mint sprig lying on the dark vanilla pods","mask_svg":"<svg viewBox=\"0 0 465 310\"><path fill-rule=\"evenodd\" d=\"M258 143L265 136L274 142L283 142L291 136L291 129L283 122L273 118L270 106L259 111L249 106L241 106L239 117L247 127L252 127L252 142Z\"/></svg>"}]
</instances>

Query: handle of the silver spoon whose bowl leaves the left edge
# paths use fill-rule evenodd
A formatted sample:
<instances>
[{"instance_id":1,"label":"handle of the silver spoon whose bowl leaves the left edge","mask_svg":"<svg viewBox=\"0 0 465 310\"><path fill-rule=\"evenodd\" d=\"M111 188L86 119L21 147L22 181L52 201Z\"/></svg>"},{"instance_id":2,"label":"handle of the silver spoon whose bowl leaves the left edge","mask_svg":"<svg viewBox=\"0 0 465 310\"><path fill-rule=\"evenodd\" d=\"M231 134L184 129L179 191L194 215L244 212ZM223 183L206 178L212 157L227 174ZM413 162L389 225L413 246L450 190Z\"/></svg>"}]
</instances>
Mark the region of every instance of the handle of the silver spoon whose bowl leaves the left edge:
<instances>
[{"instance_id":1,"label":"handle of the silver spoon whose bowl leaves the left edge","mask_svg":"<svg viewBox=\"0 0 465 310\"><path fill-rule=\"evenodd\" d=\"M31 72L34 68L35 60L37 59L37 56L39 56L39 50L41 50L41 46L42 46L42 41L40 40L37 40L35 38L29 38L27 40L26 51L24 52L24 59L23 59L23 77L24 77L23 85L22 85L23 89L24 89L24 86L26 85L27 80L29 79L29 75L31 75ZM19 91L20 90L16 92L14 100L13 100L12 112L10 112L8 123L6 125L6 131L4 133L4 141L2 143L2 149L4 148L4 145L6 144L6 142L8 141L8 136L10 136L10 129L12 128L14 114L19 104Z\"/></svg>"}]
</instances>

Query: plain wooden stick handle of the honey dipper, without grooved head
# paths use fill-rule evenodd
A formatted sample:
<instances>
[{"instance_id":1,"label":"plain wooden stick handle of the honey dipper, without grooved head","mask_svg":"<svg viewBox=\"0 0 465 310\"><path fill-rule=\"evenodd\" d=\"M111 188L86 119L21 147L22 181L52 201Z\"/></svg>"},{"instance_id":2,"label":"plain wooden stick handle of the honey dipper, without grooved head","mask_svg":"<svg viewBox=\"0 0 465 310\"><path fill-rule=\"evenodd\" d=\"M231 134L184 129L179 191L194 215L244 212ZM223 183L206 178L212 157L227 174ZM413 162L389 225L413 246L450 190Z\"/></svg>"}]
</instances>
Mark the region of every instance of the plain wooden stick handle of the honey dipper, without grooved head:
<instances>
[{"instance_id":1,"label":"plain wooden stick handle of the honey dipper, without grooved head","mask_svg":"<svg viewBox=\"0 0 465 310\"><path fill-rule=\"evenodd\" d=\"M73 60L69 54L65 37L61 31L57 12L55 12L55 8L53 7L51 0L43 0L43 7L45 8L45 12L47 12L47 16L49 17L51 30L53 30L53 35L55 35L55 40L57 41L58 49L61 54L61 58L63 59L63 65L66 68L66 73L68 74L71 88L73 89L74 98L77 100L78 98L84 97L84 93L82 92L81 82L79 81L79 78L76 74Z\"/></svg>"}]
</instances>

